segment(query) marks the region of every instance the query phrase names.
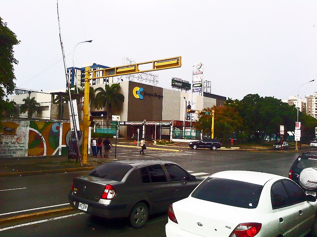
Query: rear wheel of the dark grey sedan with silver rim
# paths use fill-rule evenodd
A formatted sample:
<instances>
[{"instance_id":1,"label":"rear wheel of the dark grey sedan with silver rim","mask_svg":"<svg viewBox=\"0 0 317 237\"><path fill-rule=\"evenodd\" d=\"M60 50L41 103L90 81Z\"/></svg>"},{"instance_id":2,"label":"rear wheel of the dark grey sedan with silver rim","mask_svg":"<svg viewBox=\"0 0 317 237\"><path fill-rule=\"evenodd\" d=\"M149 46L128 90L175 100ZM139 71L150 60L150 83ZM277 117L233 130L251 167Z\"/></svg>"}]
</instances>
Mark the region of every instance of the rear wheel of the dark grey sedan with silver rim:
<instances>
[{"instance_id":1,"label":"rear wheel of the dark grey sedan with silver rim","mask_svg":"<svg viewBox=\"0 0 317 237\"><path fill-rule=\"evenodd\" d=\"M149 209L145 203L136 204L130 213L130 224L133 228L141 228L147 221Z\"/></svg>"}]
</instances>

